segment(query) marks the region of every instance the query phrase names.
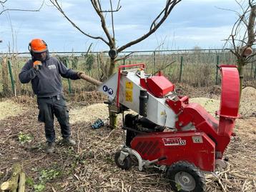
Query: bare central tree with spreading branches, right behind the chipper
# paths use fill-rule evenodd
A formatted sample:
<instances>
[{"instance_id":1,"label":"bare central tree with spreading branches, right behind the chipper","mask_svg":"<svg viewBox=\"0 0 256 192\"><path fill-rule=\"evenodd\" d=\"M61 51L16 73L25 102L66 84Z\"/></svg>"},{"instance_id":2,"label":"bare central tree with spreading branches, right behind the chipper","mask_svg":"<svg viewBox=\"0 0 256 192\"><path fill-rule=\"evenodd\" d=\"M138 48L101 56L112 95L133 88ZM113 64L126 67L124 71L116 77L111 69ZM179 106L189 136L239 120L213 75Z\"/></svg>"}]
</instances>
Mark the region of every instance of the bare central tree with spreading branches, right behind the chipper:
<instances>
[{"instance_id":1,"label":"bare central tree with spreading branches, right behind the chipper","mask_svg":"<svg viewBox=\"0 0 256 192\"><path fill-rule=\"evenodd\" d=\"M174 6L176 6L179 1L181 0L167 0L165 6L163 7L162 11L155 17L155 19L152 21L152 24L149 27L149 31L147 31L144 35L140 36L138 39L134 39L133 41L128 42L127 44L124 44L122 46L116 45L116 39L115 39L115 33L114 33L114 12L119 11L122 6L120 6L120 0L117 2L117 8L113 9L112 0L109 0L110 9L109 10L103 10L102 4L100 0L91 0L91 4L93 6L94 11L96 11L97 15L100 18L101 24L102 24L102 30L104 31L104 34L107 36L107 39L102 36L92 36L91 34L83 31L77 24L72 21L72 19L67 16L67 14L64 12L64 10L61 7L61 4L59 4L58 0L50 0L51 4L53 4L56 9L59 10L59 12L82 34L85 36L88 36L92 39L99 39L103 41L107 46L109 46L109 56L110 56L110 65L108 69L107 76L111 76L114 72L114 66L117 62L117 54L119 54L121 51L124 51L124 49L127 49L129 46L133 46L134 44L138 44L140 41L143 41L144 39L147 39L151 34L153 34L159 26L161 26L164 21L167 19L169 14L171 13ZM111 14L111 22L112 22L112 31L109 31L107 29L106 19L104 14Z\"/></svg>"}]
</instances>

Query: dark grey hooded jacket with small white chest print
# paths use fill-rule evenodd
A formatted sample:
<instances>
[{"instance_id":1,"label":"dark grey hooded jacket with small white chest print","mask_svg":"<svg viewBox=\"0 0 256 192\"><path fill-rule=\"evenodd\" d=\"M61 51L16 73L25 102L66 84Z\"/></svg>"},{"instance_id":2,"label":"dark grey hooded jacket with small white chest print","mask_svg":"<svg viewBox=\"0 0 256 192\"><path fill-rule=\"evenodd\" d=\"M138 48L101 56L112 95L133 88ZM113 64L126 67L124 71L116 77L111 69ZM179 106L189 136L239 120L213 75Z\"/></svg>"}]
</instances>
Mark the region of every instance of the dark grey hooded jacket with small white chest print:
<instances>
[{"instance_id":1,"label":"dark grey hooded jacket with small white chest print","mask_svg":"<svg viewBox=\"0 0 256 192\"><path fill-rule=\"evenodd\" d=\"M19 74L19 80L22 84L31 81L32 89L37 97L62 94L61 76L67 79L79 79L77 72L67 69L61 61L49 56L49 53L38 71L34 69L33 62L33 59L26 62Z\"/></svg>"}]
</instances>

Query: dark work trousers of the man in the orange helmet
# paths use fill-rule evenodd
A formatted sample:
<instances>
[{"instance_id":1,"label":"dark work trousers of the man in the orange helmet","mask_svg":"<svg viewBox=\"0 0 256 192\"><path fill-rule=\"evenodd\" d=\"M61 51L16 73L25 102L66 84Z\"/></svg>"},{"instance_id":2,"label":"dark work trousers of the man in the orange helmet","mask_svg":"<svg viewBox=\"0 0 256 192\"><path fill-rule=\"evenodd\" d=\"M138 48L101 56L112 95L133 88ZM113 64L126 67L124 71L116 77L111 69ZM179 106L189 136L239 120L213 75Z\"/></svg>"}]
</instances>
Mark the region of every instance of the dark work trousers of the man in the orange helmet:
<instances>
[{"instance_id":1,"label":"dark work trousers of the man in the orange helmet","mask_svg":"<svg viewBox=\"0 0 256 192\"><path fill-rule=\"evenodd\" d=\"M38 97L37 103L39 107L38 120L44 122L46 140L49 143L55 142L54 115L61 126L62 137L69 138L69 111L64 96Z\"/></svg>"}]
</instances>

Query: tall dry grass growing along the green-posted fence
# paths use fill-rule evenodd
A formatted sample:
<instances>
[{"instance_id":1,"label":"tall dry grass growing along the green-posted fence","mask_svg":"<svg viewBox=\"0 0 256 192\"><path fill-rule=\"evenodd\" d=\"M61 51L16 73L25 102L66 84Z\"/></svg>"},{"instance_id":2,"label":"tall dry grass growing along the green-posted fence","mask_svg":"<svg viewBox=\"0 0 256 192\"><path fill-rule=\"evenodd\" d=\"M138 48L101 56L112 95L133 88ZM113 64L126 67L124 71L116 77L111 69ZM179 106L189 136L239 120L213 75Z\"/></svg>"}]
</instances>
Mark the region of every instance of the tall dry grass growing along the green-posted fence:
<instances>
[{"instance_id":1,"label":"tall dry grass growing along the green-posted fence","mask_svg":"<svg viewBox=\"0 0 256 192\"><path fill-rule=\"evenodd\" d=\"M107 54L89 54L80 56L69 55L57 57L66 63L69 68L74 69L74 71L85 71L87 75L92 76L94 79L99 79L100 81L104 79L105 66L109 66ZM149 74L155 73L159 69L162 69L164 71L164 75L167 76L174 84L180 80L182 83L192 86L210 86L215 85L216 76L218 76L217 83L220 84L220 74L216 73L217 57L219 57L219 64L235 64L235 57L228 52L217 53L214 51L196 50L189 52L156 52L155 55L152 53L133 54L125 61L119 61L117 66L121 64L145 63L147 66L147 72ZM30 84L21 84L19 82L19 72L28 59L29 58L24 57L15 57L11 59L12 71L16 81L16 93L18 95L32 94ZM180 74L181 59L182 74ZM255 67L255 64L248 64L245 66L245 81L255 82L255 79L253 79L255 75ZM3 92L4 79L8 79L8 89L11 91L11 79L9 76L9 71L7 75L8 76L6 76L6 73L3 73L3 69L0 65L0 93ZM64 92L68 93L69 84L67 79L63 79L62 84L64 86ZM71 81L71 86L73 93L92 91L95 89L95 86L85 81Z\"/></svg>"}]
</instances>

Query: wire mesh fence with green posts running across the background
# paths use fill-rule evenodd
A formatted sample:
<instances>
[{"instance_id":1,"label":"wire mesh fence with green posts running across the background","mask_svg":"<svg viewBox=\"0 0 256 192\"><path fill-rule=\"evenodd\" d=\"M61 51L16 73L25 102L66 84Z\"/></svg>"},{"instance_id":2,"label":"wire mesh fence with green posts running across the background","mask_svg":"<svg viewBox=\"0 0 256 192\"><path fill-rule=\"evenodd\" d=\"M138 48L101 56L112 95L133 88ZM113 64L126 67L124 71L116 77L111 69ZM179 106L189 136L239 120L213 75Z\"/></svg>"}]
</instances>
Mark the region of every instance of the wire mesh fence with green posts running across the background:
<instances>
[{"instance_id":1,"label":"wire mesh fence with green posts running across the background","mask_svg":"<svg viewBox=\"0 0 256 192\"><path fill-rule=\"evenodd\" d=\"M132 53L132 54L131 54ZM131 55L129 55L131 54ZM126 58L126 56L129 57ZM52 52L68 68L85 71L99 81L107 78L109 56L107 52ZM19 72L30 59L29 53L0 54L0 95L33 95L30 84L19 82ZM147 73L155 74L161 70L170 81L182 82L191 86L211 86L220 84L217 65L236 64L236 58L230 51L222 49L164 50L164 51L124 51L119 53L116 66L122 64L144 63ZM256 64L247 64L244 68L244 81L256 80ZM64 91L74 94L80 91L92 91L95 86L86 81L63 79Z\"/></svg>"}]
</instances>

